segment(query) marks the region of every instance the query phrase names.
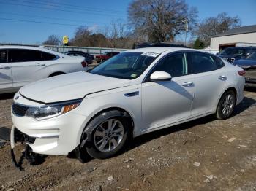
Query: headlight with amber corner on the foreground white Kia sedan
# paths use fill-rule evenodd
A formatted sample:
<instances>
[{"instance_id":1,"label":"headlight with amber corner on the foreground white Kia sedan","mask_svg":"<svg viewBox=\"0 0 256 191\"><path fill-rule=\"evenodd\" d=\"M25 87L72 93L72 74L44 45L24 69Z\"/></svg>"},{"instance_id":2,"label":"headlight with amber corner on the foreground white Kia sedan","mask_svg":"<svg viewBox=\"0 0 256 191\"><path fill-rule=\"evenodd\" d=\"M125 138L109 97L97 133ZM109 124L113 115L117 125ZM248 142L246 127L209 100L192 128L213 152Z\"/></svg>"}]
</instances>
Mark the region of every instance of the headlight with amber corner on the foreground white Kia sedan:
<instances>
[{"instance_id":1,"label":"headlight with amber corner on the foreground white Kia sedan","mask_svg":"<svg viewBox=\"0 0 256 191\"><path fill-rule=\"evenodd\" d=\"M56 117L75 109L82 102L81 99L74 101L65 101L59 104L50 104L46 106L32 106L26 111L26 116L34 117L37 120L45 120Z\"/></svg>"}]
</instances>

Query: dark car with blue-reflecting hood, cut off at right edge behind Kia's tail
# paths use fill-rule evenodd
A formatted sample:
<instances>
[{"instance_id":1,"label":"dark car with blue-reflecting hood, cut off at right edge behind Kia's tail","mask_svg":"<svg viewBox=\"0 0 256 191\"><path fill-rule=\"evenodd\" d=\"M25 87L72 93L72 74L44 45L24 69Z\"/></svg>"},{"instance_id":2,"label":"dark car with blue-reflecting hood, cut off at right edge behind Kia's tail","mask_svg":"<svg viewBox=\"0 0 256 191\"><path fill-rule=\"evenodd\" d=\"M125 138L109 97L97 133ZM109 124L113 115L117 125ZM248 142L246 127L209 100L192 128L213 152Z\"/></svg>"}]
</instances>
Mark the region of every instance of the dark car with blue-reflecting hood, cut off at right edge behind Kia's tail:
<instances>
[{"instance_id":1,"label":"dark car with blue-reflecting hood, cut off at right edge behind Kia's tail","mask_svg":"<svg viewBox=\"0 0 256 191\"><path fill-rule=\"evenodd\" d=\"M245 70L245 85L256 87L256 51L245 59L235 61L233 64Z\"/></svg>"}]
</instances>

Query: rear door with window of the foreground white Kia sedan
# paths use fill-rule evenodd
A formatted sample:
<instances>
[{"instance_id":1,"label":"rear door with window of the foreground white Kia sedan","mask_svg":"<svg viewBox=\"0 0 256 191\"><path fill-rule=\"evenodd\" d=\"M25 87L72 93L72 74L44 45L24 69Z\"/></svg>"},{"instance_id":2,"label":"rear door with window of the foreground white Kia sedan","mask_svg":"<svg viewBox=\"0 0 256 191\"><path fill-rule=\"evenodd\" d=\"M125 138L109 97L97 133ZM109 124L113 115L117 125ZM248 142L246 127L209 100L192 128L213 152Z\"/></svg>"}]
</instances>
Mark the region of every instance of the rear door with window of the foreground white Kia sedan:
<instances>
[{"instance_id":1,"label":"rear door with window of the foreground white Kia sedan","mask_svg":"<svg viewBox=\"0 0 256 191\"><path fill-rule=\"evenodd\" d=\"M188 55L195 83L192 115L212 112L226 85L227 74L222 68L224 63L217 56L208 53L189 52Z\"/></svg>"}]
</instances>

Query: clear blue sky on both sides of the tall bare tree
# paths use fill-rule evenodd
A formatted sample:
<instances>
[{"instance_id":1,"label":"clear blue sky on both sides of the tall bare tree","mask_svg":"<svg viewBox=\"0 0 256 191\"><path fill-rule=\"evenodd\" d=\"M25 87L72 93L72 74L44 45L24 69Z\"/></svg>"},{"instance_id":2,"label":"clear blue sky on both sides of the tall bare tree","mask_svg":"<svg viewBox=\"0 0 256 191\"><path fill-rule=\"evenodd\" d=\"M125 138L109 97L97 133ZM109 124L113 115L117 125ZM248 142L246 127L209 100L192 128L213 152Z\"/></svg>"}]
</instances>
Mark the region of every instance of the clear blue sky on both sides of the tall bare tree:
<instances>
[{"instance_id":1,"label":"clear blue sky on both sides of the tall bare tree","mask_svg":"<svg viewBox=\"0 0 256 191\"><path fill-rule=\"evenodd\" d=\"M103 30L113 20L127 22L132 0L0 0L0 43L40 44L49 35L74 36L86 25ZM186 0L197 7L198 20L220 12L238 16L242 26L256 24L256 0Z\"/></svg>"}]
</instances>

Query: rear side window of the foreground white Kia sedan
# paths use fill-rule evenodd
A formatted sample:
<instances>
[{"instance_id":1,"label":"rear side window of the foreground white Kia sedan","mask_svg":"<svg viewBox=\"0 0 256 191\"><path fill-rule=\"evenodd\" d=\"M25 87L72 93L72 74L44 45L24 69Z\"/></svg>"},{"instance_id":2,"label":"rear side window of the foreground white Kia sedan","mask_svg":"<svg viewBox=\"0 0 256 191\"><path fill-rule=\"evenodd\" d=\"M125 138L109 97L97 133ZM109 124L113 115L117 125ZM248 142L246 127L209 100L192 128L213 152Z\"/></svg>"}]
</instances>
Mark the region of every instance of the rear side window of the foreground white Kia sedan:
<instances>
[{"instance_id":1,"label":"rear side window of the foreground white Kia sedan","mask_svg":"<svg viewBox=\"0 0 256 191\"><path fill-rule=\"evenodd\" d=\"M200 52L190 52L190 63L192 65L192 74L214 71L224 66L221 59L214 55L208 55Z\"/></svg>"}]
</instances>

